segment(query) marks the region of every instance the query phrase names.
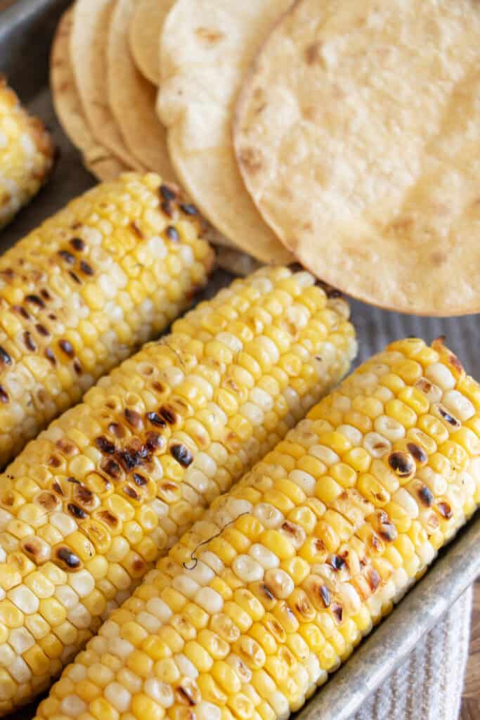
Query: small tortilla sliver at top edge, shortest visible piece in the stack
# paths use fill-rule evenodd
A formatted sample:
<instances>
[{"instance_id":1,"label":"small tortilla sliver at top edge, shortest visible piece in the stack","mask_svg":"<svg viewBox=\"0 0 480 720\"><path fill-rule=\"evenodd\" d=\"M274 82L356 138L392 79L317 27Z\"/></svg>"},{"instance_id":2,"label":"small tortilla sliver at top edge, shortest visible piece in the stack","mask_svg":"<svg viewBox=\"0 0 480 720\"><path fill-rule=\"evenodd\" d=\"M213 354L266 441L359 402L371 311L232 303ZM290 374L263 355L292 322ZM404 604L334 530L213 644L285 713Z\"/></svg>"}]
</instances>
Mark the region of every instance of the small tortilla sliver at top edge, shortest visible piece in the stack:
<instances>
[{"instance_id":1,"label":"small tortilla sliver at top edge, shortest visible piece in the stack","mask_svg":"<svg viewBox=\"0 0 480 720\"><path fill-rule=\"evenodd\" d=\"M160 85L160 35L174 0L140 0L130 22L130 52L140 73Z\"/></svg>"}]
</instances>

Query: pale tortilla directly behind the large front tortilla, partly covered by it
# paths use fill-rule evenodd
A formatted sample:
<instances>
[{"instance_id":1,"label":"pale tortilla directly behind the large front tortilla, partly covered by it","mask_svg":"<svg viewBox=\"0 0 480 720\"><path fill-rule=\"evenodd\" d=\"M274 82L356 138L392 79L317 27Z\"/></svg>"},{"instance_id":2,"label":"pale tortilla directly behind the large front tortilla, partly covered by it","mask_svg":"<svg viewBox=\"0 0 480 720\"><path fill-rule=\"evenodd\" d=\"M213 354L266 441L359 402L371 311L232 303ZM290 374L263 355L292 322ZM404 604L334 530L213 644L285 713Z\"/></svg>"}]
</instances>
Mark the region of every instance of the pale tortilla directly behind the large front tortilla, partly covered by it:
<instances>
[{"instance_id":1,"label":"pale tortilla directly behind the large front tortilla, partly covered by it","mask_svg":"<svg viewBox=\"0 0 480 720\"><path fill-rule=\"evenodd\" d=\"M258 45L289 0L177 0L160 40L158 112L178 178L226 238L264 262L288 253L262 221L237 169L235 96Z\"/></svg>"}]
</instances>

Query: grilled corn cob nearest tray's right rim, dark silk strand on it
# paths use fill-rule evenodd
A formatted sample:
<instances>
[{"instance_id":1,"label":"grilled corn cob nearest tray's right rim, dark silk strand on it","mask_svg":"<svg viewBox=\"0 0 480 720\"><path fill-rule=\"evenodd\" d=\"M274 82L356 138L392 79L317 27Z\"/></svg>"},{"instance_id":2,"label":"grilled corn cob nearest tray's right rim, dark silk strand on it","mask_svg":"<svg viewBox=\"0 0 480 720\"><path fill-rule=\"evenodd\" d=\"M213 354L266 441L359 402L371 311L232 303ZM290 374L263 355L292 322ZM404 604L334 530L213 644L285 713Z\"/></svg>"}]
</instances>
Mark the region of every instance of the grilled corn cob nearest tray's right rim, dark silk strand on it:
<instances>
[{"instance_id":1,"label":"grilled corn cob nearest tray's right rim, dark silk strand on it","mask_svg":"<svg viewBox=\"0 0 480 720\"><path fill-rule=\"evenodd\" d=\"M37 717L286 719L479 502L479 385L442 341L393 343L214 501Z\"/></svg>"}]
</instances>

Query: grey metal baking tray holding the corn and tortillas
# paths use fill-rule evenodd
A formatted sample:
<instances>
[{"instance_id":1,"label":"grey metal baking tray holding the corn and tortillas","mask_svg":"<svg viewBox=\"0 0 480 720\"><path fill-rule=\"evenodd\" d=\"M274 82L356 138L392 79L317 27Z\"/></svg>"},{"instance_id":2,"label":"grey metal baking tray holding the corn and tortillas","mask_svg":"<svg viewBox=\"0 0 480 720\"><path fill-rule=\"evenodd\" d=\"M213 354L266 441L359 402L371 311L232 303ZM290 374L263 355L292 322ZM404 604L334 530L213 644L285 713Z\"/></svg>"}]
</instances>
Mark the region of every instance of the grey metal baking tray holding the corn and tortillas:
<instances>
[{"instance_id":1,"label":"grey metal baking tray holding the corn and tortillas","mask_svg":"<svg viewBox=\"0 0 480 720\"><path fill-rule=\"evenodd\" d=\"M60 160L53 178L30 206L22 210L17 220L1 233L0 251L35 228L71 197L94 184L94 178L83 169L78 152L55 120L47 86L47 57L53 29L60 12L68 4L66 0L16 0L2 11L0 0L0 71L7 73L22 100L46 122L60 148ZM227 277L217 274L209 291L225 283ZM480 377L480 315L417 318L379 310L357 301L352 301L351 305L360 342L357 364L397 338L414 335L431 341L445 335L448 345L461 357L467 371ZM433 568L394 613L296 714L296 720L348 720L478 575L479 513L440 554ZM29 720L34 714L35 706L30 706L14 717Z\"/></svg>"}]
</instances>

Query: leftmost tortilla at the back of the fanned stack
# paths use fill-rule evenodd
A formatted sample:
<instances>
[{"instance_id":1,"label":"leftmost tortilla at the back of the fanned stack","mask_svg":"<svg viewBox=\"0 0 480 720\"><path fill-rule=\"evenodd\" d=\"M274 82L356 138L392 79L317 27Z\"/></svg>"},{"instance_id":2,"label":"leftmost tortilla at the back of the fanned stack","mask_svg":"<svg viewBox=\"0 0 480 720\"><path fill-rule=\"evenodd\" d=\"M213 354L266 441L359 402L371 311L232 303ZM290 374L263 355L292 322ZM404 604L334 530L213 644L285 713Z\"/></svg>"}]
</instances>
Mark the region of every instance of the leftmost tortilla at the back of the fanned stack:
<instances>
[{"instance_id":1,"label":"leftmost tortilla at the back of the fanned stack","mask_svg":"<svg viewBox=\"0 0 480 720\"><path fill-rule=\"evenodd\" d=\"M86 122L70 64L72 23L69 9L60 19L52 46L50 84L55 112L73 145L81 150L83 162L91 173L99 180L112 180L128 168L96 142Z\"/></svg>"}]
</instances>

